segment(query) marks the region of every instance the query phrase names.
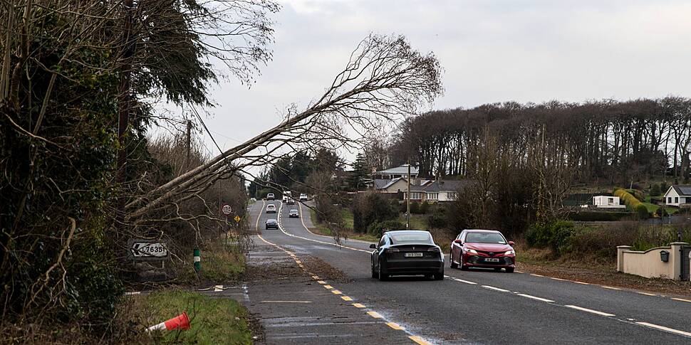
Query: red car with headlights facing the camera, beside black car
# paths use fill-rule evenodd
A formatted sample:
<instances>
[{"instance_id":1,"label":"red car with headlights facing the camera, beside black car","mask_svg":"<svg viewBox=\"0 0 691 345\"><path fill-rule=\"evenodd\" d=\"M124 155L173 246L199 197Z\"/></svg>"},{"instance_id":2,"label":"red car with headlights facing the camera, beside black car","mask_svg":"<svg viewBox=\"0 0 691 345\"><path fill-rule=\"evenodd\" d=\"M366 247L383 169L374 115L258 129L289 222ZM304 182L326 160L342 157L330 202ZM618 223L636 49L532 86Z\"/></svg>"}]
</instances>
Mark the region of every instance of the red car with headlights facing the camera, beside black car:
<instances>
[{"instance_id":1,"label":"red car with headlights facing the camera, beside black car","mask_svg":"<svg viewBox=\"0 0 691 345\"><path fill-rule=\"evenodd\" d=\"M516 252L513 241L507 241L504 235L495 230L463 230L451 243L449 261L451 268L469 267L494 268L514 272Z\"/></svg>"}]
</instances>

